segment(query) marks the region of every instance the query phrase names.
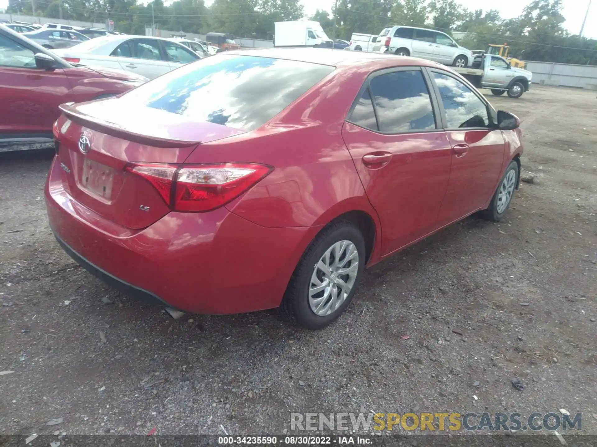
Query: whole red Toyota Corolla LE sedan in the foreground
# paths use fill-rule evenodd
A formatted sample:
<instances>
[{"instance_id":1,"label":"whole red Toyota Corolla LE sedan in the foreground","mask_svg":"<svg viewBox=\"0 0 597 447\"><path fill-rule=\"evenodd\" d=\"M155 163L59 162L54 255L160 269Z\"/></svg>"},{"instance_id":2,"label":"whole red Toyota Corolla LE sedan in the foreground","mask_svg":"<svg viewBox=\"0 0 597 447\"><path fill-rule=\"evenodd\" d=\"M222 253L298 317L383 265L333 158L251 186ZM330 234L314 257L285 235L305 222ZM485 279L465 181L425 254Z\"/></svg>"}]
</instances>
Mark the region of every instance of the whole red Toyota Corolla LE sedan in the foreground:
<instances>
[{"instance_id":1,"label":"whole red Toyota Corolla LE sedan in the foreground","mask_svg":"<svg viewBox=\"0 0 597 447\"><path fill-rule=\"evenodd\" d=\"M61 109L57 240L181 311L323 328L366 265L476 211L498 221L518 187L518 118L416 58L229 51Z\"/></svg>"}]
</instances>

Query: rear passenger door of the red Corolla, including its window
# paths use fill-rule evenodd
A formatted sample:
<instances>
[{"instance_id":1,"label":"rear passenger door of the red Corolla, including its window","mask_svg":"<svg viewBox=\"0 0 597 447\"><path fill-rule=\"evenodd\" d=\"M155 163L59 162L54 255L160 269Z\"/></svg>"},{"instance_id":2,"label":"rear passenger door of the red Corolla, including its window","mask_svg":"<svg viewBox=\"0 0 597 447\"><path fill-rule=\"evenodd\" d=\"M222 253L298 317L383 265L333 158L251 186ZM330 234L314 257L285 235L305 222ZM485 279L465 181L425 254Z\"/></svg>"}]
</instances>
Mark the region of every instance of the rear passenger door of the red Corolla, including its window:
<instances>
[{"instance_id":1,"label":"rear passenger door of the red Corolla, including its window","mask_svg":"<svg viewBox=\"0 0 597 447\"><path fill-rule=\"evenodd\" d=\"M383 254L436 228L448 184L450 142L427 82L420 67L373 73L343 127L344 142L381 220Z\"/></svg>"}]
</instances>

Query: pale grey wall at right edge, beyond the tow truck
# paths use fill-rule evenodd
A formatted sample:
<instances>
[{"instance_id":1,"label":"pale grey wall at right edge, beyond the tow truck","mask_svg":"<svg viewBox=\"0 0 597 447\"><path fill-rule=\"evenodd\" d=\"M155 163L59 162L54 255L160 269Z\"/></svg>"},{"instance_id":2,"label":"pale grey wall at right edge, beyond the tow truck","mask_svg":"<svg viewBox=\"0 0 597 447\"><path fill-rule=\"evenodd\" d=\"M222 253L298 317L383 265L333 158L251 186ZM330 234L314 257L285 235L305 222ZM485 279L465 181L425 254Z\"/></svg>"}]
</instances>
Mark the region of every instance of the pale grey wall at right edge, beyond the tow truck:
<instances>
[{"instance_id":1,"label":"pale grey wall at right edge, beyond the tow truck","mask_svg":"<svg viewBox=\"0 0 597 447\"><path fill-rule=\"evenodd\" d=\"M597 85L597 66L525 62L527 70L533 72L535 83L580 88L592 88L593 85Z\"/></svg>"}]
</instances>

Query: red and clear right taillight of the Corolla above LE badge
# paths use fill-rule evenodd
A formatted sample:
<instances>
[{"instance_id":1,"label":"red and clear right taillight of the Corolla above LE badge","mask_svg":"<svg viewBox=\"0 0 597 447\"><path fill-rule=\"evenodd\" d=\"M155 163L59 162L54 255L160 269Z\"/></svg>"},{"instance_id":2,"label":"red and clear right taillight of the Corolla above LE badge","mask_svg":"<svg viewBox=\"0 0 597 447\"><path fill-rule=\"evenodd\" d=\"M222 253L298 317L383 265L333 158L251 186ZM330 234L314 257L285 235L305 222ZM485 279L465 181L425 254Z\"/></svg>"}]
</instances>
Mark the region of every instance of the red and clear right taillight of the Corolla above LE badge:
<instances>
[{"instance_id":1,"label":"red and clear right taillight of the Corolla above LE badge","mask_svg":"<svg viewBox=\"0 0 597 447\"><path fill-rule=\"evenodd\" d=\"M257 163L130 163L125 169L149 181L173 211L205 212L234 200L273 167Z\"/></svg>"}]
</instances>

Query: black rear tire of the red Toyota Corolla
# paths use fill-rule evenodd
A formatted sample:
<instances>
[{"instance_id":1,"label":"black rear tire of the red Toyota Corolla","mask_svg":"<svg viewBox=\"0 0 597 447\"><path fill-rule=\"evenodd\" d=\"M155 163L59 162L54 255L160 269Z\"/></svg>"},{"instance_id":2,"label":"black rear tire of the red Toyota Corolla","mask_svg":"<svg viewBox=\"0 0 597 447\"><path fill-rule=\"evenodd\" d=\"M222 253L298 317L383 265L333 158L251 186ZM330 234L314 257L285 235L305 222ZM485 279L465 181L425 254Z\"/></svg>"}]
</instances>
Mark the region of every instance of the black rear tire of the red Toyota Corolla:
<instances>
[{"instance_id":1,"label":"black rear tire of the red Toyota Corolla","mask_svg":"<svg viewBox=\"0 0 597 447\"><path fill-rule=\"evenodd\" d=\"M344 260L344 264L340 267L349 269L352 267L354 272L354 262L356 250L356 272L355 277L350 275L338 275L337 281L346 281L343 284L352 283L350 291L344 294L342 286L336 282L331 282L331 287L326 287L321 291L313 292L310 296L309 289L314 286L316 288L318 283L313 283L313 278L319 281L320 285L330 284L336 278L336 274L327 275L319 268L321 263L331 266L331 271L337 269L334 247L342 247L342 243L349 243L344 245L344 249L340 251L338 259ZM347 260L349 250L352 252L353 259ZM325 256L327 254L327 257ZM350 264L350 265L349 265ZM337 221L324 229L313 239L309 247L305 250L303 257L298 262L294 269L294 273L288 282L284 298L280 305L280 313L286 319L300 327L319 330L335 321L338 316L350 305L355 290L361 280L362 271L365 266L365 240L361 231L349 221ZM328 270L329 271L329 270ZM338 298L340 302L337 303L336 309L333 309L333 295L335 288L336 294L340 293ZM343 297L343 301L341 300ZM312 302L315 300L315 302ZM318 302L319 300L319 302ZM319 312L322 315L315 313L312 306L318 306ZM323 307L322 307L323 306Z\"/></svg>"}]
</instances>

